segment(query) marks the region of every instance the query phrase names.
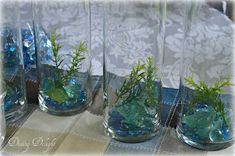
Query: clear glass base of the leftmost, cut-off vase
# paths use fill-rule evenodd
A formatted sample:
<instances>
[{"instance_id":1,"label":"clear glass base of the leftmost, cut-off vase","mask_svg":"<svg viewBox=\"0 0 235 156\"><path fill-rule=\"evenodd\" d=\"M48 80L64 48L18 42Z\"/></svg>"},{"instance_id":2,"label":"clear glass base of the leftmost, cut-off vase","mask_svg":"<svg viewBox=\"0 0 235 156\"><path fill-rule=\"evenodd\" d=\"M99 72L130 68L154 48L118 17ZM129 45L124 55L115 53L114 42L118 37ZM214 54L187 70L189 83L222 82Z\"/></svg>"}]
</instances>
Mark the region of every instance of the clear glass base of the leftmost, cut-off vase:
<instances>
[{"instance_id":1,"label":"clear glass base of the leftmost, cut-off vase","mask_svg":"<svg viewBox=\"0 0 235 156\"><path fill-rule=\"evenodd\" d=\"M6 122L14 123L21 119L27 113L27 105L23 104L20 107L17 107L14 110L6 112Z\"/></svg>"}]
</instances>

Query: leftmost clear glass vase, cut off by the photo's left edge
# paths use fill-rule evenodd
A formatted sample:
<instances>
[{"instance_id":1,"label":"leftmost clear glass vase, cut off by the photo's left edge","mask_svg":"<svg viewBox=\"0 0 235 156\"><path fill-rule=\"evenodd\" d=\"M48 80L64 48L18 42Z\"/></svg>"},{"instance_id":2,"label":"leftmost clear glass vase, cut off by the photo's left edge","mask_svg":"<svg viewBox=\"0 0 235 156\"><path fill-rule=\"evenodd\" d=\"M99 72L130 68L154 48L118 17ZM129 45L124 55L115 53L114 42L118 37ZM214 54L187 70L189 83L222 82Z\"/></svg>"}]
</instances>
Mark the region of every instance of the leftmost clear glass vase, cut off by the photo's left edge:
<instances>
[{"instance_id":1,"label":"leftmost clear glass vase, cut off by the photo's left edge","mask_svg":"<svg viewBox=\"0 0 235 156\"><path fill-rule=\"evenodd\" d=\"M1 2L1 95L7 122L14 122L27 112L22 40L17 1Z\"/></svg>"}]
</instances>

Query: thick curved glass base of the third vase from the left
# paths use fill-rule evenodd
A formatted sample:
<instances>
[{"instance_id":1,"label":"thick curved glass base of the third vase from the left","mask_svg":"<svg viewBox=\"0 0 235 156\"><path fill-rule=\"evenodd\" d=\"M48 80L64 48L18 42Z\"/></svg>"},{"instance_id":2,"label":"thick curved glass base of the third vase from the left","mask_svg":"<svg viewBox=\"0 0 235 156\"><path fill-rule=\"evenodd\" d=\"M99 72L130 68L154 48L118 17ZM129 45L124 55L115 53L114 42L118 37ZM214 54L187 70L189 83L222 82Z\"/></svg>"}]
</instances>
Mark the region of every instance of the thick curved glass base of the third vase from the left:
<instances>
[{"instance_id":1,"label":"thick curved glass base of the third vase from the left","mask_svg":"<svg viewBox=\"0 0 235 156\"><path fill-rule=\"evenodd\" d=\"M159 132L160 132L160 127L158 129L156 129L156 131L149 133L149 134L145 134L145 135L139 135L139 136L120 136L117 133L115 133L115 131L113 131L108 125L107 123L103 123L103 126L105 128L105 133L110 136L111 138L117 140L117 141L121 141L121 142L126 142L126 143L138 143L138 142L144 142L147 140L152 139L154 136L156 136Z\"/></svg>"}]
</instances>

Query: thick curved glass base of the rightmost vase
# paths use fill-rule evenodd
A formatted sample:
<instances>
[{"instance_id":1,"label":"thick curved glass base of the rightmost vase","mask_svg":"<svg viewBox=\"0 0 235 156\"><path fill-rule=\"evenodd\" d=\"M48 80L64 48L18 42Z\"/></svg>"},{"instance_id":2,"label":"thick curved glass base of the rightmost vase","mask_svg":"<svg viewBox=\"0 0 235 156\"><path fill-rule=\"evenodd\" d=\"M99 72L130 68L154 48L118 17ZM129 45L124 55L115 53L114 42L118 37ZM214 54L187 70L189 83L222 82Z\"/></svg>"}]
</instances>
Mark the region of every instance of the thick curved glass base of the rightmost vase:
<instances>
[{"instance_id":1,"label":"thick curved glass base of the rightmost vase","mask_svg":"<svg viewBox=\"0 0 235 156\"><path fill-rule=\"evenodd\" d=\"M180 132L179 128L176 128L176 136L181 142L189 146L195 147L200 150L207 150L207 151L216 151L216 150L224 149L224 148L231 146L234 143L233 139L226 141L226 142L220 142L220 143L218 142L217 143L195 142L195 141L192 141L190 138L186 137L185 135L183 135Z\"/></svg>"}]
</instances>

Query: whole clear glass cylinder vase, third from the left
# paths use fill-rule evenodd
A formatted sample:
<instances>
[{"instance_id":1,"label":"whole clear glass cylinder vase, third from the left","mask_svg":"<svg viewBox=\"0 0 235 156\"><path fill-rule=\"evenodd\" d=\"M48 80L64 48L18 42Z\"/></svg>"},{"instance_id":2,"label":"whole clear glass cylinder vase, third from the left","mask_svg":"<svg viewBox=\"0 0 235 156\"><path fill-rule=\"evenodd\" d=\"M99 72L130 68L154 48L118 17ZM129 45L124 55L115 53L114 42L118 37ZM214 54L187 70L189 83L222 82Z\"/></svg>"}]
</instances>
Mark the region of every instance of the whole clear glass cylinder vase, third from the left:
<instances>
[{"instance_id":1,"label":"whole clear glass cylinder vase, third from the left","mask_svg":"<svg viewBox=\"0 0 235 156\"><path fill-rule=\"evenodd\" d=\"M104 127L124 142L141 142L160 128L162 3L104 3Z\"/></svg>"}]
</instances>

